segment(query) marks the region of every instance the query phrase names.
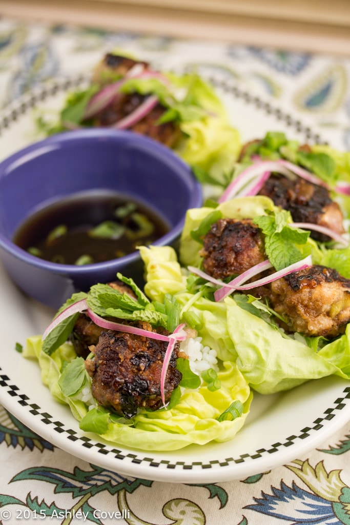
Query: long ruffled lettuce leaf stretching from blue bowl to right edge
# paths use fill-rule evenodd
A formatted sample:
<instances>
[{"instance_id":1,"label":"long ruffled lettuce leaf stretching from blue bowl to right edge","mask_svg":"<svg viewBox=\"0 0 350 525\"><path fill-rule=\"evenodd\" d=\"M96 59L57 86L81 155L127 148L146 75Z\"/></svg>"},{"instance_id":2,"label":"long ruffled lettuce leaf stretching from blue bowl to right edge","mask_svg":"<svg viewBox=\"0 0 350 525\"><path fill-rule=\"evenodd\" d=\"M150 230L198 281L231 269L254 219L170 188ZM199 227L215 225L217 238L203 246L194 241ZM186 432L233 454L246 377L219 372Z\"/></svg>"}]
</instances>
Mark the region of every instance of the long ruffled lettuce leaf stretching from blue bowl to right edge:
<instances>
[{"instance_id":1,"label":"long ruffled lettuce leaf stretching from blue bowl to right edge","mask_svg":"<svg viewBox=\"0 0 350 525\"><path fill-rule=\"evenodd\" d=\"M246 303L239 305L232 297L215 302L200 292L181 289L186 272L178 265L175 254L168 257L162 247L142 248L141 255L146 267L146 288L151 296L161 297L176 286L182 313L190 305L203 325L198 331L203 344L216 348L223 361L235 362L254 390L272 394L328 375L350 379L350 325L340 338L323 341L319 350L319 338L309 338L316 344L313 341L306 344L267 322L265 314L269 312L264 309L259 314L258 301L253 301L250 307Z\"/></svg>"}]
</instances>

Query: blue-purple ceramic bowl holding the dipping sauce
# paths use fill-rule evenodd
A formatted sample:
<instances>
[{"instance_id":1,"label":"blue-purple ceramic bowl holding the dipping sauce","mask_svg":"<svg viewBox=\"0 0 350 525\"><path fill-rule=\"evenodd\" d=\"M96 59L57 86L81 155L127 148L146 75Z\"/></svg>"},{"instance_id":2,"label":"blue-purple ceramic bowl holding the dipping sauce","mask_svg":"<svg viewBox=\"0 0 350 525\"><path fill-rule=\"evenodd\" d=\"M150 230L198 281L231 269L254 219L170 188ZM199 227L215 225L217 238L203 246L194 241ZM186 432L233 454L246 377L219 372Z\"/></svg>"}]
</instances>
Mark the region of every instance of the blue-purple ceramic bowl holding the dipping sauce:
<instances>
[{"instance_id":1,"label":"blue-purple ceramic bowl holding the dipping sauce","mask_svg":"<svg viewBox=\"0 0 350 525\"><path fill-rule=\"evenodd\" d=\"M138 251L85 266L49 262L13 242L18 227L39 209L87 191L129 195L153 208L170 230L154 245L174 245L188 208L202 203L200 184L171 150L129 131L85 129L49 137L0 163L0 258L28 296L59 308L76 291L115 280L141 283Z\"/></svg>"}]
</instances>

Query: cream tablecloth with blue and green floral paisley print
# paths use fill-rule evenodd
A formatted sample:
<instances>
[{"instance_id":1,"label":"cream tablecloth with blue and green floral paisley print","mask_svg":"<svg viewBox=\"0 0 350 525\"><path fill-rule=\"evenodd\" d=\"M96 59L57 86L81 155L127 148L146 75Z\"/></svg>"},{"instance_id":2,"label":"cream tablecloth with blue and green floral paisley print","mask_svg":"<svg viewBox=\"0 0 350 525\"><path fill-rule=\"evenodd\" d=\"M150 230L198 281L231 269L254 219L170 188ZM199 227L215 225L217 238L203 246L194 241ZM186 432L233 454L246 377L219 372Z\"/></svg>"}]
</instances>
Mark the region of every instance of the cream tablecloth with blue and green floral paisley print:
<instances>
[{"instance_id":1,"label":"cream tablecloth with blue and green floral paisley print","mask_svg":"<svg viewBox=\"0 0 350 525\"><path fill-rule=\"evenodd\" d=\"M1 12L1 9L0 9ZM350 149L350 59L0 18L0 108L121 48L168 69L198 67L283 108ZM2 152L3 156L4 152ZM3 332L7 327L1 326ZM129 479L79 460L0 408L0 523L350 523L350 423L291 463L216 484Z\"/></svg>"}]
</instances>

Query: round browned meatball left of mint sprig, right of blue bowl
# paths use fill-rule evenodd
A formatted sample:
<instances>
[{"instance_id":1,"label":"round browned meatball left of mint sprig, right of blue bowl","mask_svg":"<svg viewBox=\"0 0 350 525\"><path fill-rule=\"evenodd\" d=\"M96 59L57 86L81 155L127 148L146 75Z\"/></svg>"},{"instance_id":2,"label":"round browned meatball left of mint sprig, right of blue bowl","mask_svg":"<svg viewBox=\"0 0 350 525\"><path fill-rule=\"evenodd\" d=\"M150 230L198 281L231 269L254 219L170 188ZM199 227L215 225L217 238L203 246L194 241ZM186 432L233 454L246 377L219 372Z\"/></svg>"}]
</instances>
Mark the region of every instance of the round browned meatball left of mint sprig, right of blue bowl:
<instances>
[{"instance_id":1,"label":"round browned meatball left of mint sprig, right of blue bowl","mask_svg":"<svg viewBox=\"0 0 350 525\"><path fill-rule=\"evenodd\" d=\"M199 255L212 277L239 275L266 259L263 234L250 219L219 219L205 235Z\"/></svg>"}]
</instances>

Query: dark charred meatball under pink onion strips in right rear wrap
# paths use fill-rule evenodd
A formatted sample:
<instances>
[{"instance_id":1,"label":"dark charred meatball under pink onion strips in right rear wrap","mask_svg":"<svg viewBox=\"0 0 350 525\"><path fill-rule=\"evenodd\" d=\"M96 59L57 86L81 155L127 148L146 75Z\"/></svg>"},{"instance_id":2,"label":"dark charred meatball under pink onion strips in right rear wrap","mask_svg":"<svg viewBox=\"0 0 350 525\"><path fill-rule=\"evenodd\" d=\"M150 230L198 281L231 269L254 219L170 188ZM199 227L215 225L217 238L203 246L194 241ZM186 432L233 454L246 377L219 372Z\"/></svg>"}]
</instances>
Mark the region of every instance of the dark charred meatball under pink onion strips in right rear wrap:
<instances>
[{"instance_id":1,"label":"dark charred meatball under pink onion strips in right rear wrap","mask_svg":"<svg viewBox=\"0 0 350 525\"><path fill-rule=\"evenodd\" d=\"M344 233L341 209L332 201L330 192L324 186L306 182L300 177L292 181L287 177L271 174L259 195L270 197L276 206L287 209L294 222L318 224L337 234ZM327 235L314 231L311 232L311 237L321 242L330 240Z\"/></svg>"}]
</instances>

